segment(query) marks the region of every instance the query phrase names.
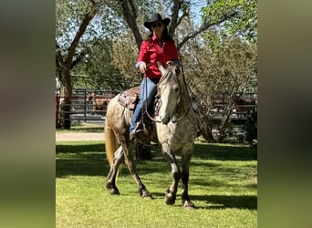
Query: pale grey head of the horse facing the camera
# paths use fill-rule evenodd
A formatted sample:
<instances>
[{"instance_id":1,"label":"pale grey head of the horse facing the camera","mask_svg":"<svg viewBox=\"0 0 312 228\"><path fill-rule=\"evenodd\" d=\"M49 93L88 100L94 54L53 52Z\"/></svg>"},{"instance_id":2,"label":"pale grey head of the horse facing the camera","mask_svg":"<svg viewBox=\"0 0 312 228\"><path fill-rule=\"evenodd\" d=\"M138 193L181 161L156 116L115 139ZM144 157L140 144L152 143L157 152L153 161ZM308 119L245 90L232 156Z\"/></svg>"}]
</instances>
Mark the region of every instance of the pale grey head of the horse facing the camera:
<instances>
[{"instance_id":1,"label":"pale grey head of the horse facing the camera","mask_svg":"<svg viewBox=\"0 0 312 228\"><path fill-rule=\"evenodd\" d=\"M158 67L161 71L161 80L158 86L158 93L161 95L159 117L163 124L167 124L172 119L181 98L180 68L176 66L164 68L160 63L158 63Z\"/></svg>"}]
</instances>

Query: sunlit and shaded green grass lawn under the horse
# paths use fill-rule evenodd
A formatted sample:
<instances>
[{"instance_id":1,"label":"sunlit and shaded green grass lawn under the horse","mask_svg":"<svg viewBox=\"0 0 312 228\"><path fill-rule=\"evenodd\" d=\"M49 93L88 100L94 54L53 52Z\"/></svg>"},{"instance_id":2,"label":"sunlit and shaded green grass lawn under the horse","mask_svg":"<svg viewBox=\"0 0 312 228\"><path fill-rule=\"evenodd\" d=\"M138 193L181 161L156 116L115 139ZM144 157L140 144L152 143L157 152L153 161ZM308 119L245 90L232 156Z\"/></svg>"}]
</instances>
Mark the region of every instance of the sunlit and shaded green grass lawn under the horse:
<instances>
[{"instance_id":1,"label":"sunlit and shaded green grass lawn under the horse","mask_svg":"<svg viewBox=\"0 0 312 228\"><path fill-rule=\"evenodd\" d=\"M257 226L256 150L196 144L189 183L195 210L182 208L181 184L175 204L165 204L171 168L158 147L152 151L152 161L137 161L140 178L155 198L142 200L125 166L117 182L120 195L109 195L103 142L57 143L57 227Z\"/></svg>"}]
</instances>

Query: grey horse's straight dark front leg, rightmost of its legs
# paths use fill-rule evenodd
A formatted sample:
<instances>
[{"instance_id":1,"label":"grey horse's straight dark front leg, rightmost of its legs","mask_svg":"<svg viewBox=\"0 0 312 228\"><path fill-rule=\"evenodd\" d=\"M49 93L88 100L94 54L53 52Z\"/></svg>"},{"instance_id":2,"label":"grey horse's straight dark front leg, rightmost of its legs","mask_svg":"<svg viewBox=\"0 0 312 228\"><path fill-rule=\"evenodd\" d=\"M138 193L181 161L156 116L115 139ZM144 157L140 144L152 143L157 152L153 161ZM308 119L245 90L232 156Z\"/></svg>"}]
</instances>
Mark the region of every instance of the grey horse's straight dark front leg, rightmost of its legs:
<instances>
[{"instance_id":1,"label":"grey horse's straight dark front leg, rightmost of its legs","mask_svg":"<svg viewBox=\"0 0 312 228\"><path fill-rule=\"evenodd\" d=\"M182 206L190 209L195 207L194 203L190 200L188 190L191 157L192 150L182 152Z\"/></svg>"}]
</instances>

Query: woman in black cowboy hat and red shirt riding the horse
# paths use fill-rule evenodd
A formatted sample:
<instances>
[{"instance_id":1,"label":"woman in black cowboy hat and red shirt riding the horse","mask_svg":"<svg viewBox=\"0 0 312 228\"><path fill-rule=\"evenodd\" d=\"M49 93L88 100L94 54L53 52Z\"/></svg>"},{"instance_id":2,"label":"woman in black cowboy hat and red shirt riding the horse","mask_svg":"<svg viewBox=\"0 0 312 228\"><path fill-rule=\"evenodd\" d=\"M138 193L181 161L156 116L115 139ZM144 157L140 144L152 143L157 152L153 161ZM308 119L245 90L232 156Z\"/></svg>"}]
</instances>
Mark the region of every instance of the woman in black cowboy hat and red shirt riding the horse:
<instances>
[{"instance_id":1,"label":"woman in black cowboy hat and red shirt riding the horse","mask_svg":"<svg viewBox=\"0 0 312 228\"><path fill-rule=\"evenodd\" d=\"M153 14L150 21L144 22L151 35L141 43L139 58L135 65L144 77L140 83L140 101L130 124L130 139L135 138L137 133L137 123L141 118L143 104L149 107L156 94L157 83L161 78L157 62L163 67L180 66L177 48L168 34L169 23L170 19L162 19L160 14Z\"/></svg>"}]
</instances>

